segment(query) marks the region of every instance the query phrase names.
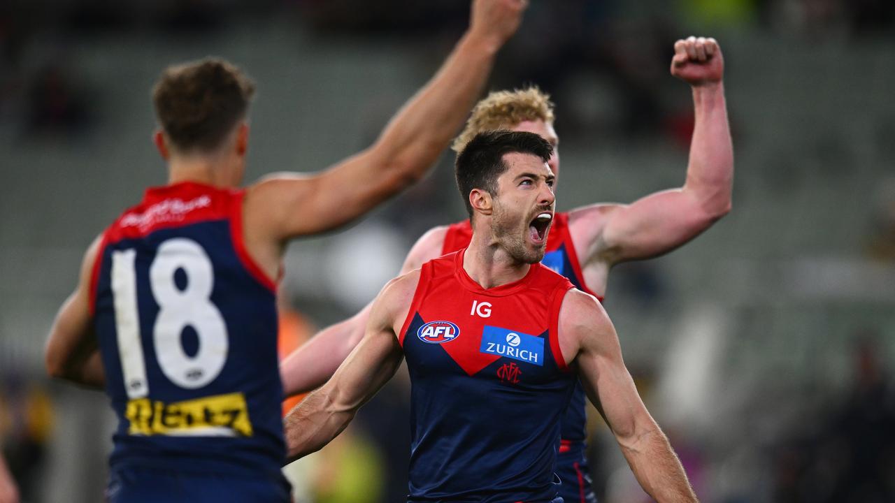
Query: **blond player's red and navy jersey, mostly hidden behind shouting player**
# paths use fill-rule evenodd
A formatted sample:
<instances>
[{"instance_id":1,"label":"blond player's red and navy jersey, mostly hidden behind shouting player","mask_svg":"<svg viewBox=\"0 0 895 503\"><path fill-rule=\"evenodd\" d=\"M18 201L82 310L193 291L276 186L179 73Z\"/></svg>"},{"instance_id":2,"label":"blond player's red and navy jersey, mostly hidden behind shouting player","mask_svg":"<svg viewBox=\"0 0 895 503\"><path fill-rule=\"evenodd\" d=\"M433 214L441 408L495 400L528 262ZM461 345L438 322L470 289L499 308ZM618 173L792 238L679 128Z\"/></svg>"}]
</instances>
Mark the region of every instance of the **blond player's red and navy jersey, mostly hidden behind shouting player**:
<instances>
[{"instance_id":1,"label":"blond player's red and navy jersey, mostly hidden behind shouting player","mask_svg":"<svg viewBox=\"0 0 895 503\"><path fill-rule=\"evenodd\" d=\"M441 253L452 253L465 248L469 246L469 242L472 239L473 227L470 225L469 220L452 224L447 227L445 243L441 248ZM558 212L553 215L550 234L547 234L547 252L544 253L541 263L567 277L575 288L592 294L602 302L603 298L594 294L584 284L581 263L575 254L575 243L572 243L572 234L568 232L568 213ZM562 439L566 442L577 443L587 439L587 413L584 411L585 399L584 388L582 388L581 383L577 383L571 403L562 419ZM566 446L567 444L564 443L563 448L567 448Z\"/></svg>"}]
</instances>

